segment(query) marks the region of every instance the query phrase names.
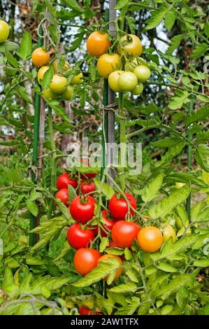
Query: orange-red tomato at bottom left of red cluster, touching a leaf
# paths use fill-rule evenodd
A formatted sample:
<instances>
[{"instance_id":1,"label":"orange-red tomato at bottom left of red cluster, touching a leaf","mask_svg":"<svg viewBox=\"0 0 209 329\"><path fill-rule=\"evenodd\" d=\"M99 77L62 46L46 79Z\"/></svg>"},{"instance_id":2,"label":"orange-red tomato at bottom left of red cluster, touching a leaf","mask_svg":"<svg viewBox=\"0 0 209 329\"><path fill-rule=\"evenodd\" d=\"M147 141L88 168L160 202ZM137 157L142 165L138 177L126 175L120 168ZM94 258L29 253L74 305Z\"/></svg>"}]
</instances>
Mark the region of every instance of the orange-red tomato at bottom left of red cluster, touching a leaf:
<instances>
[{"instance_id":1,"label":"orange-red tomato at bottom left of red cluster, touching a leaf","mask_svg":"<svg viewBox=\"0 0 209 329\"><path fill-rule=\"evenodd\" d=\"M101 253L95 249L80 248L76 251L73 263L75 270L80 275L86 275L94 269L97 261L101 257Z\"/></svg>"}]
</instances>

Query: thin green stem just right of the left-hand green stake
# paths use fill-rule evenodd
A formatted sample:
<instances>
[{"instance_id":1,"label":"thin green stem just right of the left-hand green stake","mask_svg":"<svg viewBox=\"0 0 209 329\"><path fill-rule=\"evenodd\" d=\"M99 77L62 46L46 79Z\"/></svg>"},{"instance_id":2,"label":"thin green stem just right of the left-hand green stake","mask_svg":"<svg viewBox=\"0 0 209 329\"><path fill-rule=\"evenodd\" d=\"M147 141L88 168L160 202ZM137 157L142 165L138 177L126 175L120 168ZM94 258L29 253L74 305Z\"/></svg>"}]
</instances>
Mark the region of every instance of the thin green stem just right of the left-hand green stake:
<instances>
[{"instance_id":1,"label":"thin green stem just right of the left-hand green stake","mask_svg":"<svg viewBox=\"0 0 209 329\"><path fill-rule=\"evenodd\" d=\"M56 155L56 146L53 137L53 118L52 118L52 109L48 106L48 134L50 139L50 147L52 151L52 160L51 160L51 187L50 193L55 194L56 191L56 169L57 169L57 155ZM48 218L52 216L52 210L54 207L54 200L50 200L50 206L48 209Z\"/></svg>"}]
</instances>

